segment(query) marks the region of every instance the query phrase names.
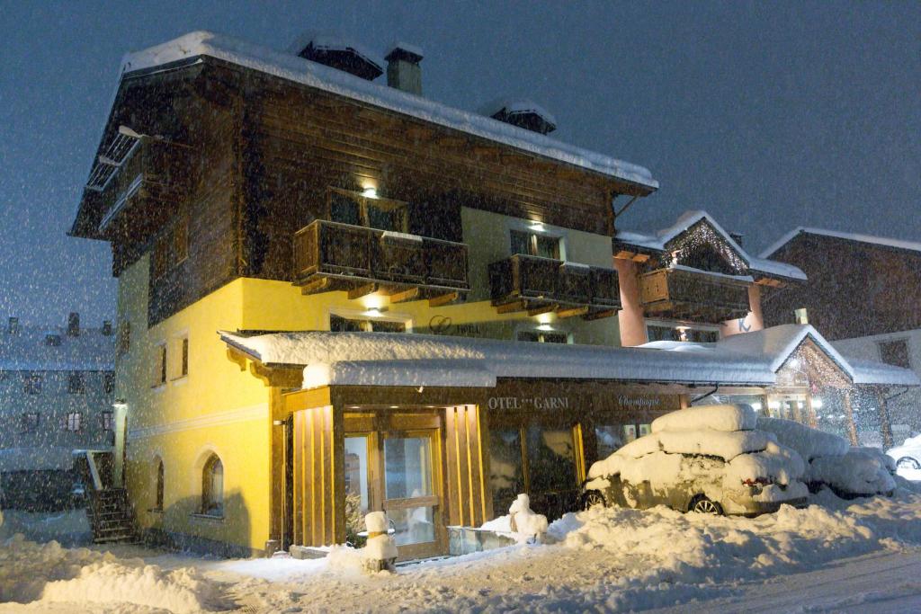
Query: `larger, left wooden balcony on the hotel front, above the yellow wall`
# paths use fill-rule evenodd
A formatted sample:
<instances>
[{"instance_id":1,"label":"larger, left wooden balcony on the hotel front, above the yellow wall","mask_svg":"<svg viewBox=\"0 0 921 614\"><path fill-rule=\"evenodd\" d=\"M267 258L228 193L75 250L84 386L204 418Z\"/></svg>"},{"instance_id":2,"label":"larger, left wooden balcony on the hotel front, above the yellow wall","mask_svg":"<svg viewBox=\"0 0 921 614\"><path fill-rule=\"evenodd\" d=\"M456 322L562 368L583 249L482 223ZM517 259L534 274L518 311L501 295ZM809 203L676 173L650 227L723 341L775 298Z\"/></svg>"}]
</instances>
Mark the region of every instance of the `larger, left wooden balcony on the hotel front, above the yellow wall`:
<instances>
[{"instance_id":1,"label":"larger, left wooden balcony on the hotel front, above the yellow wall","mask_svg":"<svg viewBox=\"0 0 921 614\"><path fill-rule=\"evenodd\" d=\"M446 304L467 292L467 246L437 238L317 220L294 237L294 283L304 294L381 291L391 303Z\"/></svg>"}]
</instances>

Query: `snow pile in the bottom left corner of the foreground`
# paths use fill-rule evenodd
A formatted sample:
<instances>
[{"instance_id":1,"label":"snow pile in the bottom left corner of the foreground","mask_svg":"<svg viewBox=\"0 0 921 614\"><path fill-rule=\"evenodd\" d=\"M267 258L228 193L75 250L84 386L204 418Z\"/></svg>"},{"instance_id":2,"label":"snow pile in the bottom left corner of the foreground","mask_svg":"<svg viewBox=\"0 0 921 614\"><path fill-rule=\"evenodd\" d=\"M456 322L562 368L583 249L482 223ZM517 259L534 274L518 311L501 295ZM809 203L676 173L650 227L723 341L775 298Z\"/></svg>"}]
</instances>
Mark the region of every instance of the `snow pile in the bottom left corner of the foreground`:
<instances>
[{"instance_id":1,"label":"snow pile in the bottom left corner of the foreground","mask_svg":"<svg viewBox=\"0 0 921 614\"><path fill-rule=\"evenodd\" d=\"M215 598L214 585L190 568L168 572L109 552L38 544L21 534L0 547L0 603L131 604L182 614L207 610Z\"/></svg>"}]
</instances>

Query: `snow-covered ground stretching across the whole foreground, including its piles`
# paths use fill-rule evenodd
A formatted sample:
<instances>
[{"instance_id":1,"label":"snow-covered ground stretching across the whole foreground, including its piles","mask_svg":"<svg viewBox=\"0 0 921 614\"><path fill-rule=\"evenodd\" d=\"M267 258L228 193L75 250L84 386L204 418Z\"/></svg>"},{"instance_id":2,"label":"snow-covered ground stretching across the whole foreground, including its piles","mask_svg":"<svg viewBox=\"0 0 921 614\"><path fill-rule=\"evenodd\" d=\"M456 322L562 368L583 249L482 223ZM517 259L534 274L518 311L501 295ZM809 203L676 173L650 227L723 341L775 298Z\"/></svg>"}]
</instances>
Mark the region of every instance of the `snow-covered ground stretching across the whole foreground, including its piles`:
<instances>
[{"instance_id":1,"label":"snow-covered ground stretching across the whole foreground, including its piles","mask_svg":"<svg viewBox=\"0 0 921 614\"><path fill-rule=\"evenodd\" d=\"M921 558L921 493L902 483L892 498L845 502L822 492L809 508L783 507L752 519L595 508L555 522L553 544L373 576L326 560L217 561L137 549L116 550L116 556L51 545L23 550L22 542L13 542L0 551L2 600L31 603L6 603L0 611L625 611L693 600L738 611L759 596L758 607L783 610L798 602L785 601L782 587L808 586L797 579L804 573L853 589L837 595L841 607L860 599L881 603L876 583L848 583L845 572L834 570L863 557L855 569L877 569L868 561L883 561L879 573L898 573L903 562L909 569ZM138 554L143 560L128 558ZM916 577L894 585L886 577L878 586L901 591L904 602L921 593Z\"/></svg>"}]
</instances>

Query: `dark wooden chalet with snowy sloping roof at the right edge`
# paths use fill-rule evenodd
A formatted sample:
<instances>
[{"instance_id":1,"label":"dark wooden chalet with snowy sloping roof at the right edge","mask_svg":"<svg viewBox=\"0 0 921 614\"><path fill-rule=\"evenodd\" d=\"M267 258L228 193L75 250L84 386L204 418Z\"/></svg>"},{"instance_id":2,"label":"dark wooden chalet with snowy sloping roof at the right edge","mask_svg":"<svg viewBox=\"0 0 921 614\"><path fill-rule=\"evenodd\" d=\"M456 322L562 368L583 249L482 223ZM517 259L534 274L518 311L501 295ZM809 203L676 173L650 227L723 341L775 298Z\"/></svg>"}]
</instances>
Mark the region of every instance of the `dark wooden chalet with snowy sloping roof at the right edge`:
<instances>
[{"instance_id":1,"label":"dark wooden chalet with snowy sloping roof at the right edge","mask_svg":"<svg viewBox=\"0 0 921 614\"><path fill-rule=\"evenodd\" d=\"M809 275L808 284L764 309L768 324L791 322L804 309L800 313L846 356L921 374L921 242L799 227L762 256ZM868 443L889 447L921 433L921 392L895 390L890 396L892 433ZM859 411L872 422L879 408L879 400L869 398Z\"/></svg>"}]
</instances>

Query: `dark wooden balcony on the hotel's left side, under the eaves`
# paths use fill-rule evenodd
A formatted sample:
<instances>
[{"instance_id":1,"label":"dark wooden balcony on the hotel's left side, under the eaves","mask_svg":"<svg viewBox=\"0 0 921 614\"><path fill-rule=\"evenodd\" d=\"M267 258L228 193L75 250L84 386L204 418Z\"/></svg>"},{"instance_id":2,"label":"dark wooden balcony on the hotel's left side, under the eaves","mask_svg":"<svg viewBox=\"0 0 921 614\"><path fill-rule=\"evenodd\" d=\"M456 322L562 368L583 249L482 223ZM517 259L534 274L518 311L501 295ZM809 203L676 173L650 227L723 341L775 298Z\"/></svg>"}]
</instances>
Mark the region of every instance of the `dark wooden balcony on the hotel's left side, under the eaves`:
<instances>
[{"instance_id":1,"label":"dark wooden balcony on the hotel's left side, under the eaves","mask_svg":"<svg viewBox=\"0 0 921 614\"><path fill-rule=\"evenodd\" d=\"M175 203L188 185L188 148L153 137L119 133L90 172L87 190L99 203L99 233L111 236L124 225L122 215L138 203ZM141 226L156 228L173 213L153 206L139 215ZM137 226L137 225L135 225Z\"/></svg>"}]
</instances>

